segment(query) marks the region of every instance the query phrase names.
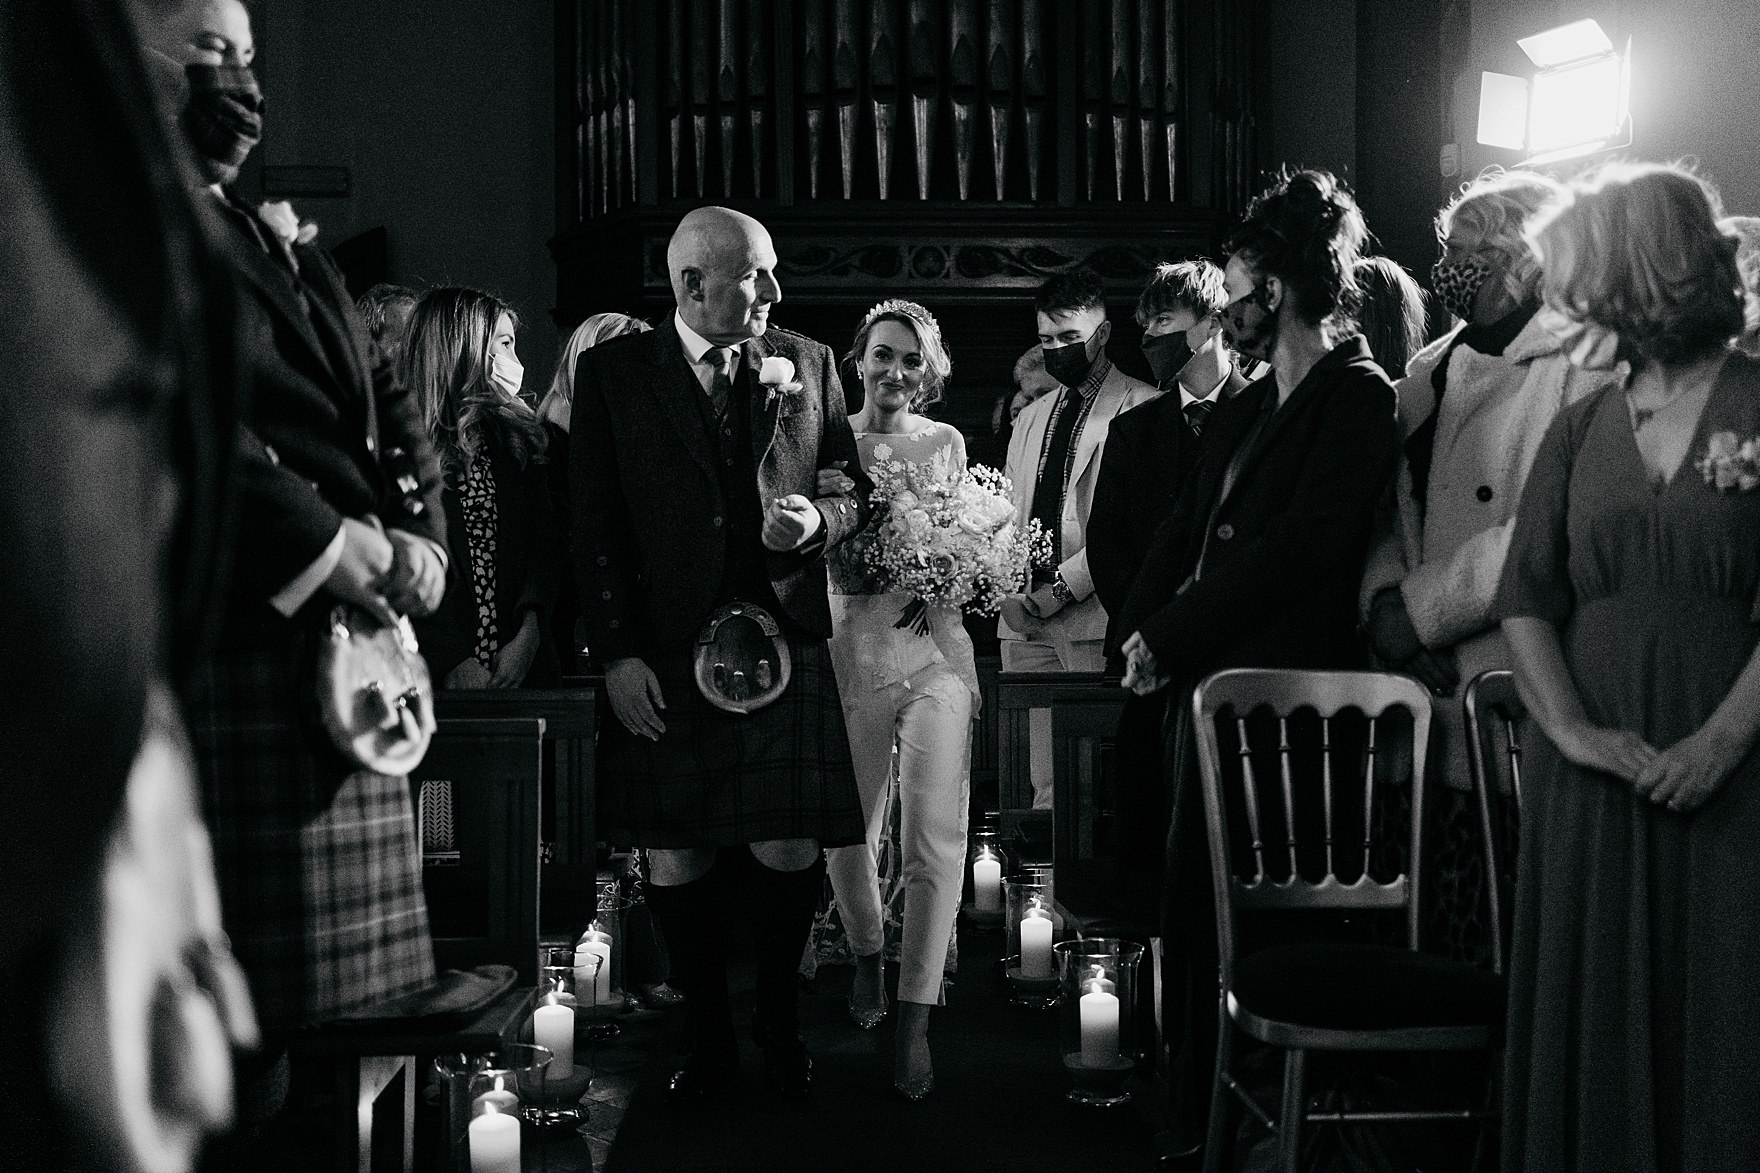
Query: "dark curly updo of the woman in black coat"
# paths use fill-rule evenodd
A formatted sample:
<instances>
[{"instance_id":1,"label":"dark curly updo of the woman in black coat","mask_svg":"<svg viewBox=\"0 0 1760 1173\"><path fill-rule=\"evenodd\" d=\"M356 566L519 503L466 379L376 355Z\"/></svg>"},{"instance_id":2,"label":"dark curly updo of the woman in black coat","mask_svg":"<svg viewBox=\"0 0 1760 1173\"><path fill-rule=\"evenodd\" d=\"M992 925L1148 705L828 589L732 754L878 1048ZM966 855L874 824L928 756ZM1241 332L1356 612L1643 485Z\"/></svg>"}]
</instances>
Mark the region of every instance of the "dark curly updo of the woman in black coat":
<instances>
[{"instance_id":1,"label":"dark curly updo of the woman in black coat","mask_svg":"<svg viewBox=\"0 0 1760 1173\"><path fill-rule=\"evenodd\" d=\"M1329 171L1297 171L1253 197L1225 252L1276 277L1309 326L1357 312L1353 269L1369 240L1357 201Z\"/></svg>"}]
</instances>

